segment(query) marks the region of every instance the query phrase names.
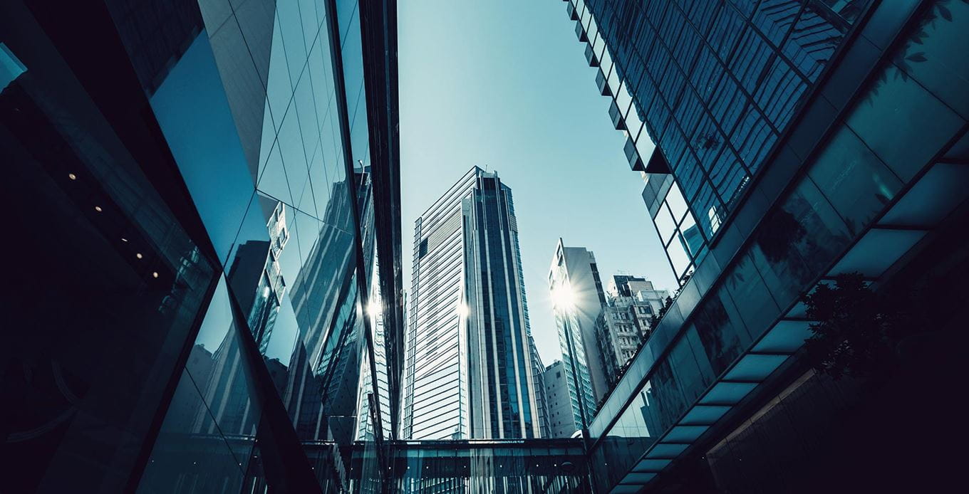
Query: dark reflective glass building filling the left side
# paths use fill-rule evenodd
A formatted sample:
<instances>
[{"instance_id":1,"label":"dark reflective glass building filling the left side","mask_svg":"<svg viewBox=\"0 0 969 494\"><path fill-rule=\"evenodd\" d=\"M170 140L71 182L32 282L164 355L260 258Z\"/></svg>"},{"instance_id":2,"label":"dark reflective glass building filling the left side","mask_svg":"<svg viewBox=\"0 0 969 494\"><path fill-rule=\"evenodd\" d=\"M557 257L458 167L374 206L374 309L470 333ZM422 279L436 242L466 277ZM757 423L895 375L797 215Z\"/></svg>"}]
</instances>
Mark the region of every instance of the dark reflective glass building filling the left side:
<instances>
[{"instance_id":1,"label":"dark reflective glass building filling the left side","mask_svg":"<svg viewBox=\"0 0 969 494\"><path fill-rule=\"evenodd\" d=\"M395 11L0 6L0 490L383 488Z\"/></svg>"}]
</instances>

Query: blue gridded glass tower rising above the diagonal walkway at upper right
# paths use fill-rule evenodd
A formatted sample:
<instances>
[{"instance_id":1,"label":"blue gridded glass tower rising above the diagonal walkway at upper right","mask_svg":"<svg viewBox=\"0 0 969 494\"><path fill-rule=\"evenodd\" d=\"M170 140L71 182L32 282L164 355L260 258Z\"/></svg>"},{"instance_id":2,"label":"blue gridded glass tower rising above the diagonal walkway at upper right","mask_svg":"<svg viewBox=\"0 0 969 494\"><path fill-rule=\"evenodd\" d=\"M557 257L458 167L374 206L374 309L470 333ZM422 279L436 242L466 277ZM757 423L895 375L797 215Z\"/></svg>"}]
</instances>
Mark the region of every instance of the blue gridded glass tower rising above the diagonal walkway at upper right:
<instances>
[{"instance_id":1,"label":"blue gridded glass tower rising above the diagonal walkway at upper right","mask_svg":"<svg viewBox=\"0 0 969 494\"><path fill-rule=\"evenodd\" d=\"M703 261L867 3L569 3L630 164L672 170L672 187L643 195L677 278Z\"/></svg>"}]
</instances>

